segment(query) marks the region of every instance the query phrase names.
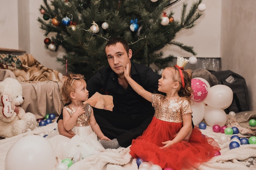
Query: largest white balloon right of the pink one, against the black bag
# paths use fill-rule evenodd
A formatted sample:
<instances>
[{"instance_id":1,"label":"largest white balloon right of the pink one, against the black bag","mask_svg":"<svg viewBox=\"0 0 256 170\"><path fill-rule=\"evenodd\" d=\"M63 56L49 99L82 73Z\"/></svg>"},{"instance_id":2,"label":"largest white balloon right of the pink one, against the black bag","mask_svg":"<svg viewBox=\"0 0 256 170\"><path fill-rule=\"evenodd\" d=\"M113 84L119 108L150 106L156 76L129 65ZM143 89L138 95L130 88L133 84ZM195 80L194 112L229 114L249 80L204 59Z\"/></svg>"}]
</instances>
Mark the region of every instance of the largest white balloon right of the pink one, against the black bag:
<instances>
[{"instance_id":1,"label":"largest white balloon right of the pink one, against the black bag","mask_svg":"<svg viewBox=\"0 0 256 170\"><path fill-rule=\"evenodd\" d=\"M233 91L227 85L214 85L208 89L204 103L215 108L227 108L233 101Z\"/></svg>"}]
</instances>

